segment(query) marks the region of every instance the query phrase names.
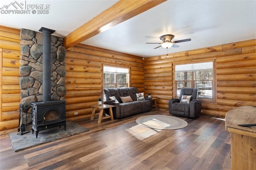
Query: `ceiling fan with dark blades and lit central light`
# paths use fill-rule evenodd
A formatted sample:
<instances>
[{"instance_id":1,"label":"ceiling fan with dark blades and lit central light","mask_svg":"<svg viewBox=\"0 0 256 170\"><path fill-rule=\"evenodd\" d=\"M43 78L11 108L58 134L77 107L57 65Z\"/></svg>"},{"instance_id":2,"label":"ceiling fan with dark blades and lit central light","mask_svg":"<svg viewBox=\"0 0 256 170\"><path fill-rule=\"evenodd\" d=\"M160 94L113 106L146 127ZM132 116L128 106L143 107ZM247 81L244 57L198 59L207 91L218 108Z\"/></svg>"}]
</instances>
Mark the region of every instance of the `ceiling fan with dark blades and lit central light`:
<instances>
[{"instance_id":1,"label":"ceiling fan with dark blades and lit central light","mask_svg":"<svg viewBox=\"0 0 256 170\"><path fill-rule=\"evenodd\" d=\"M156 48L159 48L159 47L164 47L164 48L170 48L170 47L174 47L174 48L178 48L179 45L176 45L174 43L180 43L180 42L189 42L191 41L191 39L185 39L185 40L178 40L178 41L174 41L174 42L171 42L171 40L174 38L174 35L172 34L167 34L167 35L163 35L160 37L160 40L162 40L163 42L162 43L158 43L158 44L161 44L160 46L158 47L155 47L154 49Z\"/></svg>"}]
</instances>

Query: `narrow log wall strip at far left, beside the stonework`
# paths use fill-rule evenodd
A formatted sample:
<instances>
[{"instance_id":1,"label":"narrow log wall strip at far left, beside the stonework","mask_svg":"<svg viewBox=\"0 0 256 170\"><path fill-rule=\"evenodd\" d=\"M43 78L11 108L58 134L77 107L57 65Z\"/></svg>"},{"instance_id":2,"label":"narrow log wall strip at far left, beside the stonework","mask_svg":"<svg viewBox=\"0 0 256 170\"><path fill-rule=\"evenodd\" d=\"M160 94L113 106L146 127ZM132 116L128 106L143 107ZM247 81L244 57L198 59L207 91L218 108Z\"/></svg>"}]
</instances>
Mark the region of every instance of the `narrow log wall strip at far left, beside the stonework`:
<instances>
[{"instance_id":1,"label":"narrow log wall strip at far left, beside the stonework","mask_svg":"<svg viewBox=\"0 0 256 170\"><path fill-rule=\"evenodd\" d=\"M18 128L20 30L0 26L0 130Z\"/></svg>"}]
</instances>

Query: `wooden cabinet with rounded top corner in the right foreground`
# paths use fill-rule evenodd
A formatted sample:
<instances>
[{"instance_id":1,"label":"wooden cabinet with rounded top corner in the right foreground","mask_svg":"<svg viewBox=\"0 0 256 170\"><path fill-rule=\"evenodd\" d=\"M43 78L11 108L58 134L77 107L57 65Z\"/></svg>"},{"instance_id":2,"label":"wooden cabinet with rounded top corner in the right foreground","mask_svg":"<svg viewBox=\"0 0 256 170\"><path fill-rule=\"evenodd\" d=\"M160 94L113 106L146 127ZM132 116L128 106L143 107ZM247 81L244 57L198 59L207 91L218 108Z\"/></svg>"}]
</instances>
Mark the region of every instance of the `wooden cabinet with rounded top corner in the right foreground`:
<instances>
[{"instance_id":1,"label":"wooden cabinet with rounded top corner in the right foreground","mask_svg":"<svg viewBox=\"0 0 256 170\"><path fill-rule=\"evenodd\" d=\"M256 107L242 106L226 113L226 130L231 134L232 170L256 170Z\"/></svg>"}]
</instances>

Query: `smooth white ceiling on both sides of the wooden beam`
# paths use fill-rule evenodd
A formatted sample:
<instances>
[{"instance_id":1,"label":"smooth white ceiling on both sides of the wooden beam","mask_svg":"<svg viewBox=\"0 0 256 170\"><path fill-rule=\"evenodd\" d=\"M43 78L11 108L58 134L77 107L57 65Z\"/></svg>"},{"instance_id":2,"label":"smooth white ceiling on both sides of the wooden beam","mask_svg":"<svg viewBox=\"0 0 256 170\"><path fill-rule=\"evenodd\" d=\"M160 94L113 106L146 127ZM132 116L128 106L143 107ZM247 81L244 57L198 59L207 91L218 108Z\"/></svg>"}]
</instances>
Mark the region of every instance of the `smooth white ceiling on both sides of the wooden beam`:
<instances>
[{"instance_id":1,"label":"smooth white ceiling on both sides of the wooden beam","mask_svg":"<svg viewBox=\"0 0 256 170\"><path fill-rule=\"evenodd\" d=\"M0 25L38 31L56 30L65 37L118 0L16 0L19 4L50 4L49 14L0 14ZM0 8L15 0L0 1ZM14 9L10 6L8 10ZM176 43L168 53L198 49L256 38L255 0L168 0L117 26L82 42L86 45L122 53L151 57L164 55L160 36L175 35Z\"/></svg>"}]
</instances>

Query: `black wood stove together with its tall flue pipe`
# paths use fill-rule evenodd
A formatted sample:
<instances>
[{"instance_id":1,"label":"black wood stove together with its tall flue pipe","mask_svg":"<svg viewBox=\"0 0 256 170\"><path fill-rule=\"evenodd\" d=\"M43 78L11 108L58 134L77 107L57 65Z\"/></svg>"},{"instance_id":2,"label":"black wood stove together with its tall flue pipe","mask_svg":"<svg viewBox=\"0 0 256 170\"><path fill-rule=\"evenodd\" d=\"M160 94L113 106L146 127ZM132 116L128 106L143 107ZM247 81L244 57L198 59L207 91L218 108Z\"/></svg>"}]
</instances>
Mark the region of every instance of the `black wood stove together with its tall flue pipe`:
<instances>
[{"instance_id":1,"label":"black wood stove together with its tall flue pipe","mask_svg":"<svg viewBox=\"0 0 256 170\"><path fill-rule=\"evenodd\" d=\"M66 101L51 101L51 34L54 30L40 28L43 33L43 101L32 103L32 134L40 130L64 126L66 130Z\"/></svg>"}]
</instances>

